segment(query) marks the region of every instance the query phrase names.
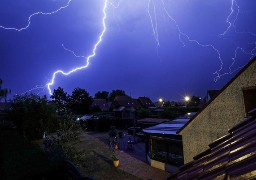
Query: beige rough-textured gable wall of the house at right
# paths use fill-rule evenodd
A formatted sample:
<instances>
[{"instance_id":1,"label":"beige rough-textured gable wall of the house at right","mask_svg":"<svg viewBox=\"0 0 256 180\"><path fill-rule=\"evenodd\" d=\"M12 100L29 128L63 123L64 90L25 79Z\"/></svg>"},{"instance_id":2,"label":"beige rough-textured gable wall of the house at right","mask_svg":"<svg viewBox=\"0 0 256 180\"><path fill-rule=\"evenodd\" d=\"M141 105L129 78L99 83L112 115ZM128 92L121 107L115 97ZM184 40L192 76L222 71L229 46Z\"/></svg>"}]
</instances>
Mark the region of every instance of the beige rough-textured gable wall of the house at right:
<instances>
[{"instance_id":1,"label":"beige rough-textured gable wall of the house at right","mask_svg":"<svg viewBox=\"0 0 256 180\"><path fill-rule=\"evenodd\" d=\"M227 83L178 134L182 136L184 161L207 149L215 139L226 134L256 107L256 58Z\"/></svg>"}]
</instances>

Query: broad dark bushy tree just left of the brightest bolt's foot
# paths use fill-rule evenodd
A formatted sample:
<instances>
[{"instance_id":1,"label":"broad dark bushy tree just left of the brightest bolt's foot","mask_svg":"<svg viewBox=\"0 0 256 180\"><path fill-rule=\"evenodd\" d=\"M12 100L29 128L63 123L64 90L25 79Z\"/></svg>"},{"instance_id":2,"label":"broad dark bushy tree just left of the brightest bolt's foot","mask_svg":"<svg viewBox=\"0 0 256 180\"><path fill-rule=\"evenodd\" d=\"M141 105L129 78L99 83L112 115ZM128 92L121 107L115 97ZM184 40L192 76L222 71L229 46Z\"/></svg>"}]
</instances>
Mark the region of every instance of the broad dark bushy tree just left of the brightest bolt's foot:
<instances>
[{"instance_id":1,"label":"broad dark bushy tree just left of the brightest bolt's foot","mask_svg":"<svg viewBox=\"0 0 256 180\"><path fill-rule=\"evenodd\" d=\"M42 138L43 132L58 128L56 106L35 94L17 95L11 100L9 118L28 139Z\"/></svg>"}]
</instances>

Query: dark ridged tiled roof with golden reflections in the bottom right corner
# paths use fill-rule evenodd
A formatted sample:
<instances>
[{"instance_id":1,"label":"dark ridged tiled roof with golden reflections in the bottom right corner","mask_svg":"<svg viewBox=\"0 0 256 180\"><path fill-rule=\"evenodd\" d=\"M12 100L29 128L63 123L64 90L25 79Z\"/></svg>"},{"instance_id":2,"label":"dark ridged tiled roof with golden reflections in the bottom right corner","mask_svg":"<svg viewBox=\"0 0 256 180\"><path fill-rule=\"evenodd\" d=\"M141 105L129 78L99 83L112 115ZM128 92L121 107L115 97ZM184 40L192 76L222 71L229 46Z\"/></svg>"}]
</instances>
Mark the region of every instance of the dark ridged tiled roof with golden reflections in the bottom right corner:
<instances>
[{"instance_id":1,"label":"dark ridged tiled roof with golden reflections in the bottom right corner","mask_svg":"<svg viewBox=\"0 0 256 180\"><path fill-rule=\"evenodd\" d=\"M229 134L209 144L169 179L256 178L256 115L246 118Z\"/></svg>"}]
</instances>

